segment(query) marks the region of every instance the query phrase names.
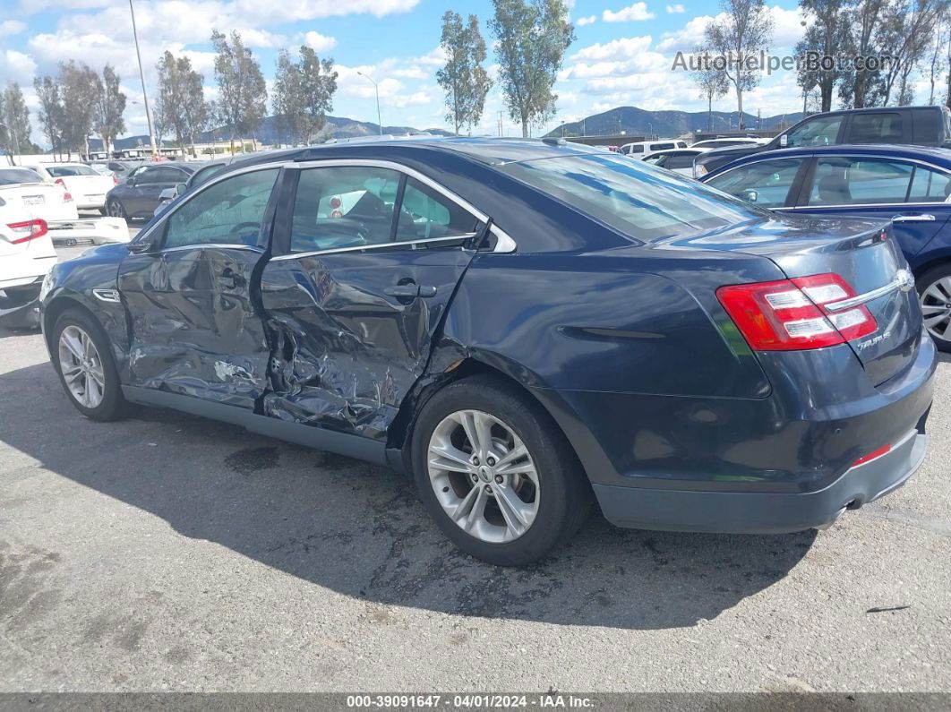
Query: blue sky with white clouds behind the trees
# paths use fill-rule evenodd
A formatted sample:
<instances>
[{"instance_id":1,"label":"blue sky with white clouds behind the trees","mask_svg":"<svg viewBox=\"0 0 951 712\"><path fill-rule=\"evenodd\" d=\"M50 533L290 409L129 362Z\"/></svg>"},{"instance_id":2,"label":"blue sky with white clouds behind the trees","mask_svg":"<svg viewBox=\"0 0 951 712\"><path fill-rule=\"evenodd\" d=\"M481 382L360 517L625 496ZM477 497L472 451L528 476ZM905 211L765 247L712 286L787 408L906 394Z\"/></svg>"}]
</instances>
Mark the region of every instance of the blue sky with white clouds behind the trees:
<instances>
[{"instance_id":1,"label":"blue sky with white clouds behind the trees","mask_svg":"<svg viewBox=\"0 0 951 712\"><path fill-rule=\"evenodd\" d=\"M478 15L485 28L488 0L448 3L440 0L135 0L136 19L146 68L154 90L155 63L165 49L186 53L204 73L205 93L215 94L212 28L239 29L271 80L281 48L308 44L339 65L339 90L333 113L376 121L373 86L357 74L379 82L384 124L418 128L444 126L443 95L435 73L441 64L440 18L447 9ZM555 90L558 116L548 127L612 106L703 110L684 72L672 72L678 49L688 50L702 37L716 6L658 0L576 0L570 3L577 39L569 49ZM794 2L771 4L776 20L772 50L783 53L803 31ZM487 65L495 62L492 48ZM145 111L138 80L127 0L0 0L0 86L16 81L27 89L35 109L32 79L55 71L65 59L101 69L117 67L131 100L126 110L128 133L145 133ZM495 68L491 67L491 71ZM770 77L750 92L745 108L763 115L802 107L791 73ZM729 95L716 108L735 109ZM495 133L502 98L494 90L476 133ZM504 130L517 127L504 116ZM34 140L42 137L34 129Z\"/></svg>"}]
</instances>

